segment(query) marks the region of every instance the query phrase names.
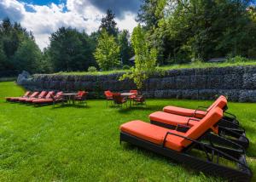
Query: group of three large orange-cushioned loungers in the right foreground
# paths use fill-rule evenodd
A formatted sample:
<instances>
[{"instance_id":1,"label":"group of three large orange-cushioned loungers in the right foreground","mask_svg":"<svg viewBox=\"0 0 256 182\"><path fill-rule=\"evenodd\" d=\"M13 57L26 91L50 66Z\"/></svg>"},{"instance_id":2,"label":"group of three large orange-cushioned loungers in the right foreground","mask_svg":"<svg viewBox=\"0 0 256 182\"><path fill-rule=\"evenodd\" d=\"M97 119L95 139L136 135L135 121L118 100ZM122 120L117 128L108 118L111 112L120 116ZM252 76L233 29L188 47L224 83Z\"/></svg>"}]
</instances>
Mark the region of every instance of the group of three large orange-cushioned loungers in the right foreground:
<instances>
[{"instance_id":1,"label":"group of three large orange-cushioned loungers in the right foreground","mask_svg":"<svg viewBox=\"0 0 256 182\"><path fill-rule=\"evenodd\" d=\"M196 110L166 106L149 115L151 123L137 120L122 124L120 142L138 145L204 173L249 181L252 171L245 154L249 139L227 109L224 96Z\"/></svg>"}]
</instances>

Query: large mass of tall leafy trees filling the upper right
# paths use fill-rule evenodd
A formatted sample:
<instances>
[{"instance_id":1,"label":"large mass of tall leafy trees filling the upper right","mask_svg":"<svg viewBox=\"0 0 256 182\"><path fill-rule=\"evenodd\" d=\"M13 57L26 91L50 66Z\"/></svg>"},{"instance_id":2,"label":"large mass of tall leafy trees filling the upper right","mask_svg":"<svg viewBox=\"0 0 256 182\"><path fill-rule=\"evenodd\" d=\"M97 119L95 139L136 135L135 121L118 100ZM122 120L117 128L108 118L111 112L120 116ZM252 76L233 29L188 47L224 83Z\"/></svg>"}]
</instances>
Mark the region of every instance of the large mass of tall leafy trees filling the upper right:
<instances>
[{"instance_id":1,"label":"large mass of tall leafy trees filling the upper right","mask_svg":"<svg viewBox=\"0 0 256 182\"><path fill-rule=\"evenodd\" d=\"M249 7L252 1L143 2L139 20L145 24L148 40L158 48L165 64L166 60L185 63L226 54L253 55L256 20L255 9Z\"/></svg>"}]
</instances>

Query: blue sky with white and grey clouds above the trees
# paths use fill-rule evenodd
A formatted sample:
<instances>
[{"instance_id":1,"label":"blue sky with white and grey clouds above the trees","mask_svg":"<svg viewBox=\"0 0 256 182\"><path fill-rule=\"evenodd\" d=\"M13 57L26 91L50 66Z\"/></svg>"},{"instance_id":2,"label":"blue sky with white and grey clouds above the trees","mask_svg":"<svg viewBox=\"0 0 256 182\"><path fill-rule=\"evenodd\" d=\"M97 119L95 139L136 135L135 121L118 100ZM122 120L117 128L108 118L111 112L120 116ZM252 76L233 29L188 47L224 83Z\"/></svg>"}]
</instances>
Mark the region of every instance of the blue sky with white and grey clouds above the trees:
<instances>
[{"instance_id":1,"label":"blue sky with white and grey clouds above the trees","mask_svg":"<svg viewBox=\"0 0 256 182\"><path fill-rule=\"evenodd\" d=\"M61 26L90 34L98 30L107 9L116 14L119 30L132 31L140 0L0 0L0 20L9 17L32 31L39 48L49 45L49 36Z\"/></svg>"}]
</instances>

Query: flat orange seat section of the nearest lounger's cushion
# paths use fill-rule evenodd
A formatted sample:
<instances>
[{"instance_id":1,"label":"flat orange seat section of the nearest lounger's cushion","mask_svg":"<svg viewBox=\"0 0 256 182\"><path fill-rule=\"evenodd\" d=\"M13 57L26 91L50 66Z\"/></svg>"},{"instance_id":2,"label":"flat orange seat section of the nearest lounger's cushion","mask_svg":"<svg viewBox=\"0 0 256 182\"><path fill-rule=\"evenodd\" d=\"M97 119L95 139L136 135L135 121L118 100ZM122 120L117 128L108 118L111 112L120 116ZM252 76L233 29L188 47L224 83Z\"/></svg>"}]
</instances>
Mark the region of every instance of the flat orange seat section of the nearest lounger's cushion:
<instances>
[{"instance_id":1,"label":"flat orange seat section of the nearest lounger's cushion","mask_svg":"<svg viewBox=\"0 0 256 182\"><path fill-rule=\"evenodd\" d=\"M140 120L126 122L125 124L122 124L120 126L120 130L125 134L131 134L132 136L136 136L137 138L147 140L156 145L163 144L167 132L183 135L183 133L177 132L175 130L161 128ZM183 138L181 137L168 134L165 146L175 151L182 151L182 140Z\"/></svg>"}]
</instances>

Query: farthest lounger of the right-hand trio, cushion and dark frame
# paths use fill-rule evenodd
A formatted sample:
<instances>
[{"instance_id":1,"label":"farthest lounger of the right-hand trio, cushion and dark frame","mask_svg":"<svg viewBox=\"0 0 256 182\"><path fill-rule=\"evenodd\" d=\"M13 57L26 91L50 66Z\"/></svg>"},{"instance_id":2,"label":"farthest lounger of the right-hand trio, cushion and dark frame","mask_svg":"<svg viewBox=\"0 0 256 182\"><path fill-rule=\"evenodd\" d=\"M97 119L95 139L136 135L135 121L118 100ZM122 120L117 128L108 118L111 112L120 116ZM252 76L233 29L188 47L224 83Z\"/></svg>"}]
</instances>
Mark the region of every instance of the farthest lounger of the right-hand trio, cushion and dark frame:
<instances>
[{"instance_id":1,"label":"farthest lounger of the right-hand trio, cushion and dark frame","mask_svg":"<svg viewBox=\"0 0 256 182\"><path fill-rule=\"evenodd\" d=\"M197 109L193 110L193 109L187 109L187 108L168 105L163 108L163 111L171 114L181 115L184 117L202 118L207 114L207 111L210 111L214 106L218 106L224 110L224 117L222 118L224 122L221 123L223 124L224 127L230 127L230 125L234 127L239 125L239 122L236 120L236 116L226 111L228 109L228 106L227 106L227 99L224 97L224 95L219 96L218 99L215 100L212 103L212 105L210 105L209 107L198 106Z\"/></svg>"}]
</instances>

